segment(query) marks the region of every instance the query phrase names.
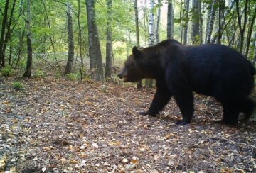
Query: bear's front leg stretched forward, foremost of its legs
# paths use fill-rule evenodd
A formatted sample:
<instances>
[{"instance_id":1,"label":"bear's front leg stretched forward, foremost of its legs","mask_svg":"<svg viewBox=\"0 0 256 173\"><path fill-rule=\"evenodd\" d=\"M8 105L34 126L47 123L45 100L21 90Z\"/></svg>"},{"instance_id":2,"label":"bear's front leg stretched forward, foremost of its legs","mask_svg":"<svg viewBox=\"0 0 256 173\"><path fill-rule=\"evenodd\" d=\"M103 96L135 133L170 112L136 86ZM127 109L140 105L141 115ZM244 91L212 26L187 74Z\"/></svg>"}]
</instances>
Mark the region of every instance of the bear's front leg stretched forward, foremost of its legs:
<instances>
[{"instance_id":1,"label":"bear's front leg stretched forward, foremost of its legs","mask_svg":"<svg viewBox=\"0 0 256 173\"><path fill-rule=\"evenodd\" d=\"M156 116L156 114L163 110L164 106L166 106L170 99L171 93L166 86L161 86L156 82L156 93L154 94L154 99L151 102L149 110L140 114L144 116Z\"/></svg>"}]
</instances>

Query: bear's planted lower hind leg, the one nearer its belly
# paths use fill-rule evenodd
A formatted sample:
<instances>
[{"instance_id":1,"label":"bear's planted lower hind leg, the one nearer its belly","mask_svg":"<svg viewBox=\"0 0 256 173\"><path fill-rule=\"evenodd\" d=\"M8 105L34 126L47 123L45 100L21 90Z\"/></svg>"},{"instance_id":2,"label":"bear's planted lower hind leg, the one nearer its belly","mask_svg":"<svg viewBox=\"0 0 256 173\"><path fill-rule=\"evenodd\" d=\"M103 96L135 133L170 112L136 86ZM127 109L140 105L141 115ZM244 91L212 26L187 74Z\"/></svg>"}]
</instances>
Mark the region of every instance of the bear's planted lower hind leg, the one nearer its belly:
<instances>
[{"instance_id":1,"label":"bear's planted lower hind leg, the one nearer its belly","mask_svg":"<svg viewBox=\"0 0 256 173\"><path fill-rule=\"evenodd\" d=\"M223 123L236 125L238 123L239 112L239 104L237 101L223 103Z\"/></svg>"}]
</instances>

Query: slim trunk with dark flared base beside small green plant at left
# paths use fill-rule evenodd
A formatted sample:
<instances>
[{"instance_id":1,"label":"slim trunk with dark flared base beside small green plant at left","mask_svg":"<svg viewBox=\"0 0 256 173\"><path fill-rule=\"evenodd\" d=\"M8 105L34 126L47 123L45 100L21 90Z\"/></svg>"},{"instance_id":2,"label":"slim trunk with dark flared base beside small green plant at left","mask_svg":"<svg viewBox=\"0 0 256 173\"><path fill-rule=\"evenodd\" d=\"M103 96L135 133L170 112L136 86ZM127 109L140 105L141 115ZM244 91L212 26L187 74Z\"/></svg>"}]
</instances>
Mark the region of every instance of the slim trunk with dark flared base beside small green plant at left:
<instances>
[{"instance_id":1,"label":"slim trunk with dark flared base beside small green plant at left","mask_svg":"<svg viewBox=\"0 0 256 173\"><path fill-rule=\"evenodd\" d=\"M26 30L27 30L27 48L28 48L28 60L26 64L26 70L23 77L31 77L32 69L32 40L31 40L31 0L27 0L27 19L26 19Z\"/></svg>"}]
</instances>

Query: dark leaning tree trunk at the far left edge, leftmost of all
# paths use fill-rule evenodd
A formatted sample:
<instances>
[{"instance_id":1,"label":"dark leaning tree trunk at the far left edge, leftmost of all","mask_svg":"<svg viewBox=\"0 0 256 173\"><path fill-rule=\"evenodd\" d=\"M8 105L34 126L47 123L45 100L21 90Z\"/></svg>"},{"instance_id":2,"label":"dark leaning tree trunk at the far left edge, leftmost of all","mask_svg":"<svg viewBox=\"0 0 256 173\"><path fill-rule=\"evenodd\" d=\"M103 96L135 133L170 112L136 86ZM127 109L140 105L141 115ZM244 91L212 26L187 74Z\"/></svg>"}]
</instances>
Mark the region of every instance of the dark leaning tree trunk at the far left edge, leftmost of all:
<instances>
[{"instance_id":1,"label":"dark leaning tree trunk at the far left edge, leftmost of all","mask_svg":"<svg viewBox=\"0 0 256 173\"><path fill-rule=\"evenodd\" d=\"M1 25L1 35L0 35L0 63L1 68L4 67L4 35L6 30L6 23L8 18L8 9L9 9L9 0L6 0L5 6L4 6L4 16L3 21Z\"/></svg>"}]
</instances>

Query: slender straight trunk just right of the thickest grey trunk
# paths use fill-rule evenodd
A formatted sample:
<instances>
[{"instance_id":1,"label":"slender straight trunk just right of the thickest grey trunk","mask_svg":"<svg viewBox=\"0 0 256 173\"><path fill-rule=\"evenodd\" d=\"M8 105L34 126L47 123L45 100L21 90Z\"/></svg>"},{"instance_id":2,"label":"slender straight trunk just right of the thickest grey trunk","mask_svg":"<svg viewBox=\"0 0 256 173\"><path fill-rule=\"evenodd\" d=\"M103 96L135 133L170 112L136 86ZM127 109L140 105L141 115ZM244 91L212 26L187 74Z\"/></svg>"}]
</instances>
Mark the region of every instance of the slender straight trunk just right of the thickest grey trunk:
<instances>
[{"instance_id":1,"label":"slender straight trunk just right of the thickest grey trunk","mask_svg":"<svg viewBox=\"0 0 256 173\"><path fill-rule=\"evenodd\" d=\"M106 43L106 69L105 77L112 77L112 0L107 0L107 43Z\"/></svg>"}]
</instances>

